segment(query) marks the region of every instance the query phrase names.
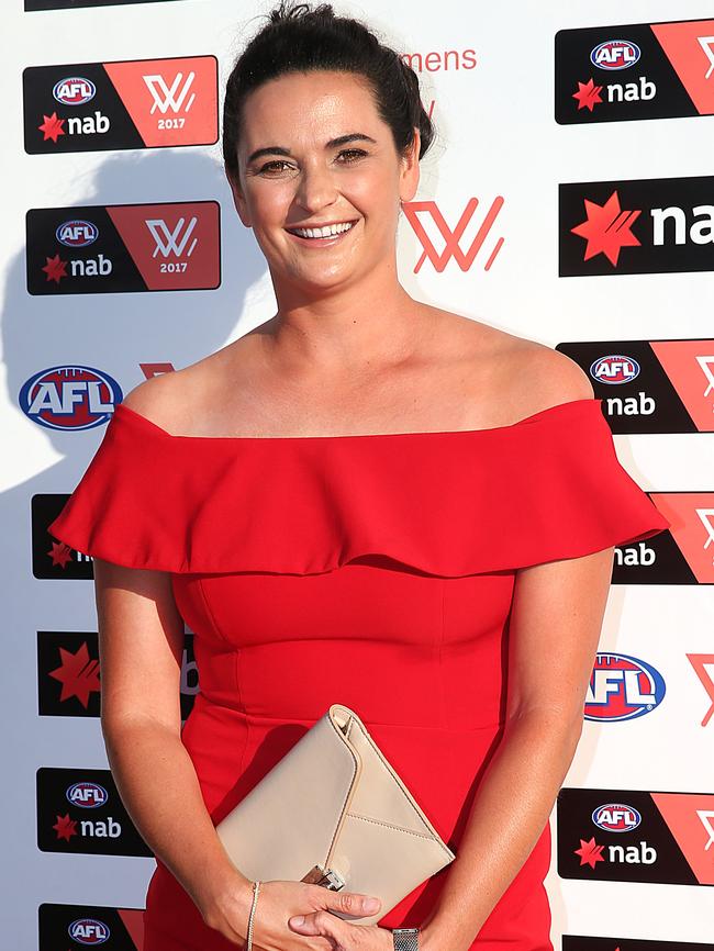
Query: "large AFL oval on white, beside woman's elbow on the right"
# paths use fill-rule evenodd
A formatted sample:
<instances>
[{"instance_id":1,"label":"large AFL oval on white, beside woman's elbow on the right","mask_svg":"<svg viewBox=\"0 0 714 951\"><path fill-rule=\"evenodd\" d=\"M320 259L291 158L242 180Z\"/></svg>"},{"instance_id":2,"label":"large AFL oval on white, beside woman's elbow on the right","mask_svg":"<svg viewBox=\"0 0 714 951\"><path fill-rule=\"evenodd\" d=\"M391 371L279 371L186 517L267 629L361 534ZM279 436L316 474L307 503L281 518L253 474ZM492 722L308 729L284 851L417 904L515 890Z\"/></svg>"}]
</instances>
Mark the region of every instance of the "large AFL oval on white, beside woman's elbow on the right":
<instances>
[{"instance_id":1,"label":"large AFL oval on white, beside woman's elbow on the right","mask_svg":"<svg viewBox=\"0 0 714 951\"><path fill-rule=\"evenodd\" d=\"M655 709L665 680L644 660L626 653L598 653L585 697L587 720L632 720Z\"/></svg>"}]
</instances>

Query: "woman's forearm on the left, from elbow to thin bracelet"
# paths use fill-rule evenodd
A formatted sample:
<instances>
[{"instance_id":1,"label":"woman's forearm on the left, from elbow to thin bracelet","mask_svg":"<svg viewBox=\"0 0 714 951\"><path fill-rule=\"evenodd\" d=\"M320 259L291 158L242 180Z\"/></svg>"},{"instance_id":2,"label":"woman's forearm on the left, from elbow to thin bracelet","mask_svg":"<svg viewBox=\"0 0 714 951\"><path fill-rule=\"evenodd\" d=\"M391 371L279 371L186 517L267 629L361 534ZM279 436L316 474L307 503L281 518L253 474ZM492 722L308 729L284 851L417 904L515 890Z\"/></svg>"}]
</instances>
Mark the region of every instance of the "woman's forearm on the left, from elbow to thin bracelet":
<instances>
[{"instance_id":1,"label":"woman's forearm on the left, from elbow to thin bracelet","mask_svg":"<svg viewBox=\"0 0 714 951\"><path fill-rule=\"evenodd\" d=\"M215 832L196 769L179 736L136 721L104 729L112 775L142 838L204 914L225 888L248 880L232 864Z\"/></svg>"}]
</instances>

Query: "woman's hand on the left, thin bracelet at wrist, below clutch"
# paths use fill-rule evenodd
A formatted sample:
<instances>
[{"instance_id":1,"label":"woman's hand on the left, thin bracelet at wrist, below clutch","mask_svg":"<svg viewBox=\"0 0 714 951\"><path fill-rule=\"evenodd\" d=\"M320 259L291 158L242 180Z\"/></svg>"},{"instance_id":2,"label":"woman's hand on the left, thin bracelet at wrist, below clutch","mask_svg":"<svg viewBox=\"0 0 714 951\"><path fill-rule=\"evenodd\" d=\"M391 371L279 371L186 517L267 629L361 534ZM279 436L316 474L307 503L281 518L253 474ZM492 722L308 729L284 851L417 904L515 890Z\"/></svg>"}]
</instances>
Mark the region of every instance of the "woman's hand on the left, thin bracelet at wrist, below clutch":
<instances>
[{"instance_id":1,"label":"woman's hand on the left, thin bracelet at wrist, below clutch","mask_svg":"<svg viewBox=\"0 0 714 951\"><path fill-rule=\"evenodd\" d=\"M365 904L377 903L375 907ZM356 918L379 910L379 898L358 892L333 892L322 885L274 880L260 882L253 917L253 947L256 951L327 951L332 943L322 937L298 935L288 926L293 915L309 915L320 909L346 913ZM245 946L248 916L253 905L253 885L232 890L214 899L203 913L203 920L230 941ZM349 920L349 919L347 919Z\"/></svg>"}]
</instances>

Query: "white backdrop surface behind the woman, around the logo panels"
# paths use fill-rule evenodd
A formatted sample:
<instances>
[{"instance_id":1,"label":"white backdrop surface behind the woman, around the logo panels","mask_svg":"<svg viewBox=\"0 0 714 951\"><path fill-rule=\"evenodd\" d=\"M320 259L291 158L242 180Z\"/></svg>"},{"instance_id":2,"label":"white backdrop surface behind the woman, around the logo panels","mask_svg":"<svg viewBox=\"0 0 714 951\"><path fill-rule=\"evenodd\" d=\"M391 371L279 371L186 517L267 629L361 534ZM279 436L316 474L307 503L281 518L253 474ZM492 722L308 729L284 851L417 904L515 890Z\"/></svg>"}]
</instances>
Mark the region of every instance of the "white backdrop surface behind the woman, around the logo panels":
<instances>
[{"instance_id":1,"label":"white backdrop surface behind the woman, around the logo panels","mask_svg":"<svg viewBox=\"0 0 714 951\"><path fill-rule=\"evenodd\" d=\"M27 66L214 54L219 89L253 18L268 4L179 0L23 13L3 11L12 42L0 64L4 94L2 272L2 467L4 630L2 646L2 943L35 949L43 902L143 906L153 862L64 855L37 849L38 767L107 768L99 720L37 715L36 631L96 630L88 581L41 580L31 567L30 500L69 492L103 427L54 433L20 409L22 383L63 362L101 367L124 392L143 379L138 363L179 368L243 335L272 314L264 260L235 215L220 143L188 148L27 155L22 134L22 70ZM712 272L558 277L558 183L712 174L714 119L564 126L554 120L554 36L558 30L714 16L692 0L478 3L370 0L339 4L405 52L475 49L473 69L424 71L438 139L423 164L421 199L434 199L451 225L467 200L484 208L502 195L493 266L451 261L442 273L412 227L400 232L401 277L415 297L550 346L567 340L705 338L712 333ZM223 280L217 290L178 293L33 297L25 286L25 212L31 208L215 200L222 208ZM462 240L468 246L480 219ZM427 231L433 225L426 225ZM437 231L434 244L443 246ZM645 490L714 490L711 434L616 436L623 465ZM602 649L645 657L667 673L667 705L624 724L587 724L566 785L707 792L714 784L714 721L701 727L706 696L685 653L712 652L714 590L707 585L616 585ZM559 879L547 887L553 939L561 933L713 940L713 890ZM714 854L712 855L714 862Z\"/></svg>"}]
</instances>

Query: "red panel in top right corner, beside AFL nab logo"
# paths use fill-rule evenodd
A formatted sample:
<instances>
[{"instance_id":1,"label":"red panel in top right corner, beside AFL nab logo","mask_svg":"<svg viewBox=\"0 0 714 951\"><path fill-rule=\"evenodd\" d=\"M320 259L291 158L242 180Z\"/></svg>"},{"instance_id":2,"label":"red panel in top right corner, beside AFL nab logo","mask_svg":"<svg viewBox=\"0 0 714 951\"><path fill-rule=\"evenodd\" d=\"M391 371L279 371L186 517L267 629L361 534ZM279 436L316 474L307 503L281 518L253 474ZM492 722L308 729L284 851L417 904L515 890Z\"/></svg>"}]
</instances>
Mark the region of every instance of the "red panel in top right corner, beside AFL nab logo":
<instances>
[{"instance_id":1,"label":"red panel in top right corner, beside AFL nab logo","mask_svg":"<svg viewBox=\"0 0 714 951\"><path fill-rule=\"evenodd\" d=\"M714 20L652 23L651 30L699 113L714 113Z\"/></svg>"}]
</instances>

